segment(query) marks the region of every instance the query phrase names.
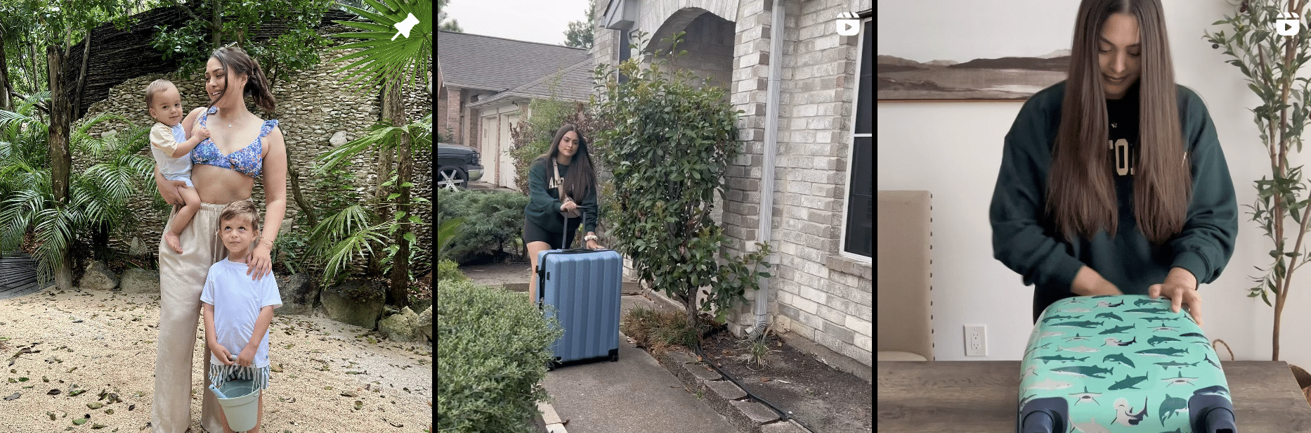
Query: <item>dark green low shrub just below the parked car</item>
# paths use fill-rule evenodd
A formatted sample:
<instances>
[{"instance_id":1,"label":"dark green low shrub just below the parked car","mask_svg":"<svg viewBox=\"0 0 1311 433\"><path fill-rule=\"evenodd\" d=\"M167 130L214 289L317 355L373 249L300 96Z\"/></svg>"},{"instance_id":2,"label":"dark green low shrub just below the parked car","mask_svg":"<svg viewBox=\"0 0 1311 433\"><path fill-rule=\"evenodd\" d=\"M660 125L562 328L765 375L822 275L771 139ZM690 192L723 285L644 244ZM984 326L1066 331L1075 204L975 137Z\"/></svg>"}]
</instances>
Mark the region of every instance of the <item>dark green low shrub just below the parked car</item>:
<instances>
[{"instance_id":1,"label":"dark green low shrub just below the parked car","mask_svg":"<svg viewBox=\"0 0 1311 433\"><path fill-rule=\"evenodd\" d=\"M501 255L506 247L518 248L528 196L461 190L439 192L437 201L438 226L450 218L464 218L464 224L446 249L447 257L455 262L468 262L480 255Z\"/></svg>"}]
</instances>

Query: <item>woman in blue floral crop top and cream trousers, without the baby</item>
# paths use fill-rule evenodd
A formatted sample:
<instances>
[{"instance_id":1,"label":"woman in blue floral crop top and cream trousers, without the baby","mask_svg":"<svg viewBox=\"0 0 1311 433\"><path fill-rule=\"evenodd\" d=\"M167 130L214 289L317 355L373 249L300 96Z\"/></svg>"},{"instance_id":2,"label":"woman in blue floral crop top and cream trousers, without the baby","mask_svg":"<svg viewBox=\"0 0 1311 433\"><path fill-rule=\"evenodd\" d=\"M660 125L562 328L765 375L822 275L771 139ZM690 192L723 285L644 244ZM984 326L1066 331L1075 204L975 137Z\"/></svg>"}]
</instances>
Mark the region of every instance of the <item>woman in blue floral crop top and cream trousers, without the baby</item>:
<instances>
[{"instance_id":1,"label":"woman in blue floral crop top and cream trousers, without the baby","mask_svg":"<svg viewBox=\"0 0 1311 433\"><path fill-rule=\"evenodd\" d=\"M191 362L201 314L201 291L210 266L225 257L218 235L219 213L236 201L250 199L254 182L262 181L265 218L261 237L250 249L246 273L252 279L271 278L270 251L277 240L287 209L287 156L278 121L265 121L246 109L246 101L267 112L274 110L269 80L258 63L241 49L214 50L205 67L205 89L210 106L195 108L181 122L190 138L202 127L210 136L190 152L191 181L201 198L201 209L189 226L181 230L177 253L160 240L160 336L155 360L155 395L151 407L151 429L156 433L182 433L191 426ZM165 202L174 205L173 214L184 205L180 189L186 182L166 180L155 171L155 184ZM173 215L169 215L172 227ZM165 227L164 232L169 232ZM207 350L206 350L207 352ZM202 353L205 371L210 371L208 353ZM201 426L210 433L223 432L218 400L201 388Z\"/></svg>"}]
</instances>

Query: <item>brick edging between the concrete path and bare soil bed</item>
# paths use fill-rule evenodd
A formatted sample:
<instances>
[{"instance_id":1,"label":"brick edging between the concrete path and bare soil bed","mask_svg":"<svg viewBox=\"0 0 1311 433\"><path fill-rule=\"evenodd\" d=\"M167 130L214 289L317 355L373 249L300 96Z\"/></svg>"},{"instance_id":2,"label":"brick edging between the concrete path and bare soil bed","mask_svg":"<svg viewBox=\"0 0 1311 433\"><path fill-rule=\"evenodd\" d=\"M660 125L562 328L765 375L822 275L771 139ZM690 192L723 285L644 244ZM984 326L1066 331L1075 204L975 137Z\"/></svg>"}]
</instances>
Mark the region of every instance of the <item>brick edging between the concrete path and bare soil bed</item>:
<instances>
[{"instance_id":1,"label":"brick edging between the concrete path and bare soil bed","mask_svg":"<svg viewBox=\"0 0 1311 433\"><path fill-rule=\"evenodd\" d=\"M701 391L705 403L728 419L738 432L808 433L792 421L780 421L772 409L753 400L746 391L725 379L718 371L700 365L687 353L666 352L656 360L688 390Z\"/></svg>"}]
</instances>

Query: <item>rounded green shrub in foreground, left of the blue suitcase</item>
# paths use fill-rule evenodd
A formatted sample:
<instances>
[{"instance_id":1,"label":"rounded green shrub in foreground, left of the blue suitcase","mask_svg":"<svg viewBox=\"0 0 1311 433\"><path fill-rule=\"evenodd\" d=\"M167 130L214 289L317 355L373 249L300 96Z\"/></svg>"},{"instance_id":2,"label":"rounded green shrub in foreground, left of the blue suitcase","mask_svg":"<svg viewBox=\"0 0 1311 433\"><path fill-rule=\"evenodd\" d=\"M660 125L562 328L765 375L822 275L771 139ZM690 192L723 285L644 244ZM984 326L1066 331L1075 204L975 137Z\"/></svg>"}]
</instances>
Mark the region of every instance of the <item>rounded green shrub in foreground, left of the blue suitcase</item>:
<instances>
[{"instance_id":1,"label":"rounded green shrub in foreground, left of the blue suitcase","mask_svg":"<svg viewBox=\"0 0 1311 433\"><path fill-rule=\"evenodd\" d=\"M535 432L558 325L517 293L468 281L437 290L437 430Z\"/></svg>"}]
</instances>

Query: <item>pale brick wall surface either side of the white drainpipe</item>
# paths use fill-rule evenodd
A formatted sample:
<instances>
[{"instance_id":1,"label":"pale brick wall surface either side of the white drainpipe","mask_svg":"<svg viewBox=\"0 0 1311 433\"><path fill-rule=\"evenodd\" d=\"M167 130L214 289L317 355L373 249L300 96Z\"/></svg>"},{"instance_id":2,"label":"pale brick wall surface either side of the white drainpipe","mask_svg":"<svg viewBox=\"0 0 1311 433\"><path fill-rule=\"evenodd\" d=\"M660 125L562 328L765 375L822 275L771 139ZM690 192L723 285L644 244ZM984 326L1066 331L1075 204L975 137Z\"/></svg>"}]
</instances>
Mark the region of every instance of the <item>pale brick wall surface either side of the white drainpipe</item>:
<instances>
[{"instance_id":1,"label":"pale brick wall surface either side of the white drainpipe","mask_svg":"<svg viewBox=\"0 0 1311 433\"><path fill-rule=\"evenodd\" d=\"M776 329L873 365L871 265L838 255L857 46L836 34L834 20L857 8L852 0L787 5L768 312ZM732 101L746 112L739 136L747 155L729 173L724 222L739 248L755 241L759 224L766 80L777 59L770 52L772 13L772 1L743 3L734 39ZM749 303L732 320L741 329L753 318Z\"/></svg>"}]
</instances>

